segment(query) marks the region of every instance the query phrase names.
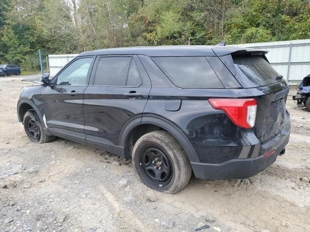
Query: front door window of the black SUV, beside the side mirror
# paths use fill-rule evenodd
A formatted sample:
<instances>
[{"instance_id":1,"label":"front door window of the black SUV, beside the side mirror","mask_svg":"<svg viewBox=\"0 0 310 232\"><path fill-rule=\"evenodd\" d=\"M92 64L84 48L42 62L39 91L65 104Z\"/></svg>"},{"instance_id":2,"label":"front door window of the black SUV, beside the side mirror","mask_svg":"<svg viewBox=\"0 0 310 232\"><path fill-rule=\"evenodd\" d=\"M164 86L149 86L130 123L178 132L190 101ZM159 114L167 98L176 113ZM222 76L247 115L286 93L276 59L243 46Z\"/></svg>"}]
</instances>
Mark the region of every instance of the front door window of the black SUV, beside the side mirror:
<instances>
[{"instance_id":1,"label":"front door window of the black SUV, beside the side mirror","mask_svg":"<svg viewBox=\"0 0 310 232\"><path fill-rule=\"evenodd\" d=\"M86 85L86 78L93 58L80 58L71 63L57 77L56 85Z\"/></svg>"}]
</instances>

